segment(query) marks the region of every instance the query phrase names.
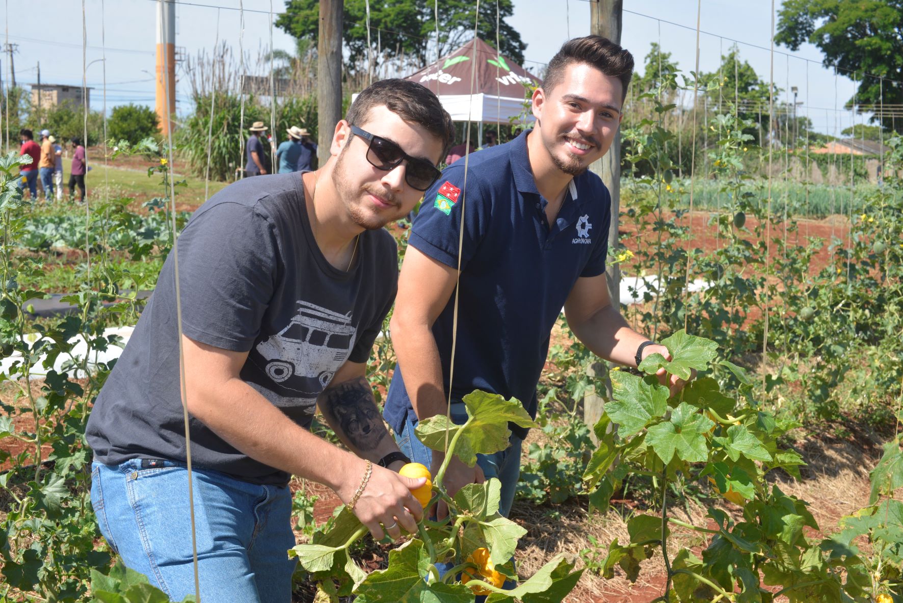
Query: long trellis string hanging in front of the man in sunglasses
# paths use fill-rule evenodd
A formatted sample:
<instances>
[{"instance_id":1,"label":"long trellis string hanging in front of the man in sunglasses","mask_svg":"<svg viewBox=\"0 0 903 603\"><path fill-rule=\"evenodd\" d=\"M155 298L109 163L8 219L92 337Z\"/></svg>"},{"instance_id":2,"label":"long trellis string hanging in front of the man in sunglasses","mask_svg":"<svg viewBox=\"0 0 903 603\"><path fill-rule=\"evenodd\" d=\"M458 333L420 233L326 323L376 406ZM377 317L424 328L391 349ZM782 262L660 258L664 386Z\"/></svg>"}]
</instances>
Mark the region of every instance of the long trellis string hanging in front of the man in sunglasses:
<instances>
[{"instance_id":1,"label":"long trellis string hanging in front of the man in sunglasses","mask_svg":"<svg viewBox=\"0 0 903 603\"><path fill-rule=\"evenodd\" d=\"M167 14L163 2L160 3L160 27L166 27L164 16ZM167 40L160 32L161 40ZM168 46L168 45L167 45ZM179 338L179 384L180 393L182 394L182 421L185 426L185 466L188 477L188 506L189 516L191 518L191 561L194 569L194 594L200 603L200 577L198 574L198 537L197 529L194 521L194 485L192 483L192 467L191 467L191 430L188 417L188 392L185 385L185 351L182 346L183 330L182 330L182 290L179 283L179 234L177 229L177 214L175 209L175 179L172 174L175 171L175 165L172 163L172 107L170 106L170 79L169 79L169 48L163 48L163 93L166 97L166 139L167 154L169 164L169 183L170 183L170 216L172 218L172 274L175 280L175 314L176 329Z\"/></svg>"}]
</instances>

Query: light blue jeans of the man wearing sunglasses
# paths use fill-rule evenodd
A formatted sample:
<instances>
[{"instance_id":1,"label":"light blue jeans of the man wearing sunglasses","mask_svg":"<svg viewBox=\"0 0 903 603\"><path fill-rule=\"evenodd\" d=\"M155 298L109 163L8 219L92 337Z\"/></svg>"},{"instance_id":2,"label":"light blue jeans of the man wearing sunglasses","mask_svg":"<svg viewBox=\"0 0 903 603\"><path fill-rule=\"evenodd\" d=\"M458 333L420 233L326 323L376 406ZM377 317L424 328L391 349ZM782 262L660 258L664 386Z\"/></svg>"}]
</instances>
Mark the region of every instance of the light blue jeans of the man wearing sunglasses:
<instances>
[{"instance_id":1,"label":"light blue jeans of the man wearing sunglasses","mask_svg":"<svg viewBox=\"0 0 903 603\"><path fill-rule=\"evenodd\" d=\"M168 460L91 466L100 533L129 568L175 601L194 594L188 470ZM194 468L200 600L289 603L296 561L288 487Z\"/></svg>"}]
</instances>

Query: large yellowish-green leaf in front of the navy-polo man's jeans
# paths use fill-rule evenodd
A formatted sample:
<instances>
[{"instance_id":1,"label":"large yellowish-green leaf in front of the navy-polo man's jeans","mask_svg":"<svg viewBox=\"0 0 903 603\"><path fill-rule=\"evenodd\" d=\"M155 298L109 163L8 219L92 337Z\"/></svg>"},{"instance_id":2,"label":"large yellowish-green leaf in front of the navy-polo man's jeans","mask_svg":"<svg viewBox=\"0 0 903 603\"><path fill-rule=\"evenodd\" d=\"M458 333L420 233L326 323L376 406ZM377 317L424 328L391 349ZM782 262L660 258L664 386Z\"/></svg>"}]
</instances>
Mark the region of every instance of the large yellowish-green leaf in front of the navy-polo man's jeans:
<instances>
[{"instance_id":1,"label":"large yellowish-green leaf in front of the navy-polo man's jeans","mask_svg":"<svg viewBox=\"0 0 903 603\"><path fill-rule=\"evenodd\" d=\"M508 422L520 427L537 427L523 404L516 399L505 400L498 394L488 394L475 390L463 398L470 419L463 425L454 425L441 414L417 425L417 438L433 450L445 450L445 431L449 431L449 441L458 437L454 454L468 467L477 462L477 454L492 454L505 450L511 437ZM461 435L459 436L459 432Z\"/></svg>"}]
</instances>

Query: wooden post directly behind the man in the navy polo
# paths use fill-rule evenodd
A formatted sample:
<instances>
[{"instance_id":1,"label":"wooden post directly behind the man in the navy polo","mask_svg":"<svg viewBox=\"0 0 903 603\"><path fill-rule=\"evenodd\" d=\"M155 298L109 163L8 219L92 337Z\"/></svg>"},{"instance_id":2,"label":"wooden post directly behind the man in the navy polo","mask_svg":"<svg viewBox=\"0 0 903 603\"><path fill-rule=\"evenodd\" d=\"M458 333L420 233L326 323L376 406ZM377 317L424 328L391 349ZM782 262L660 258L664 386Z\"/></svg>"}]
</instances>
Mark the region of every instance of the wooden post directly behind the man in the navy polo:
<instances>
[{"instance_id":1,"label":"wooden post directly behind the man in the navy polo","mask_svg":"<svg viewBox=\"0 0 903 603\"><path fill-rule=\"evenodd\" d=\"M611 42L620 43L623 0L590 0L590 32L608 38ZM620 129L608 153L599 161L590 165L590 170L599 174L602 182L611 194L611 224L609 227L609 246L618 248L618 223L620 212ZM609 264L605 270L608 277L611 302L620 302L620 269L618 264ZM603 366L592 367L591 374L599 375ZM606 379L607 397L611 395L611 383ZM602 416L605 399L597 394L583 397L583 421L592 428ZM591 434L595 441L595 434Z\"/></svg>"}]
</instances>

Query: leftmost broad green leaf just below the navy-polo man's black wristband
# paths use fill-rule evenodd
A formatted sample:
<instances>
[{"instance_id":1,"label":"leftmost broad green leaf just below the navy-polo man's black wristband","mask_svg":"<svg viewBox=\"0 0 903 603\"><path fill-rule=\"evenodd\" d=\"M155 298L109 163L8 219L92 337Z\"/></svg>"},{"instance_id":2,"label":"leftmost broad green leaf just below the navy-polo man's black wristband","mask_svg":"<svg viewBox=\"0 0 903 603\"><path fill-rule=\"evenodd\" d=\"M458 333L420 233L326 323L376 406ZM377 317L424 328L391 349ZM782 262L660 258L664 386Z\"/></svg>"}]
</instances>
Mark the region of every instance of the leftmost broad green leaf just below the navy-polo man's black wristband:
<instances>
[{"instance_id":1,"label":"leftmost broad green leaf just below the navy-polo man's black wristband","mask_svg":"<svg viewBox=\"0 0 903 603\"><path fill-rule=\"evenodd\" d=\"M618 423L618 435L627 438L663 414L668 408L668 388L655 376L645 378L624 371L612 371L614 400L605 403L605 413Z\"/></svg>"}]
</instances>

